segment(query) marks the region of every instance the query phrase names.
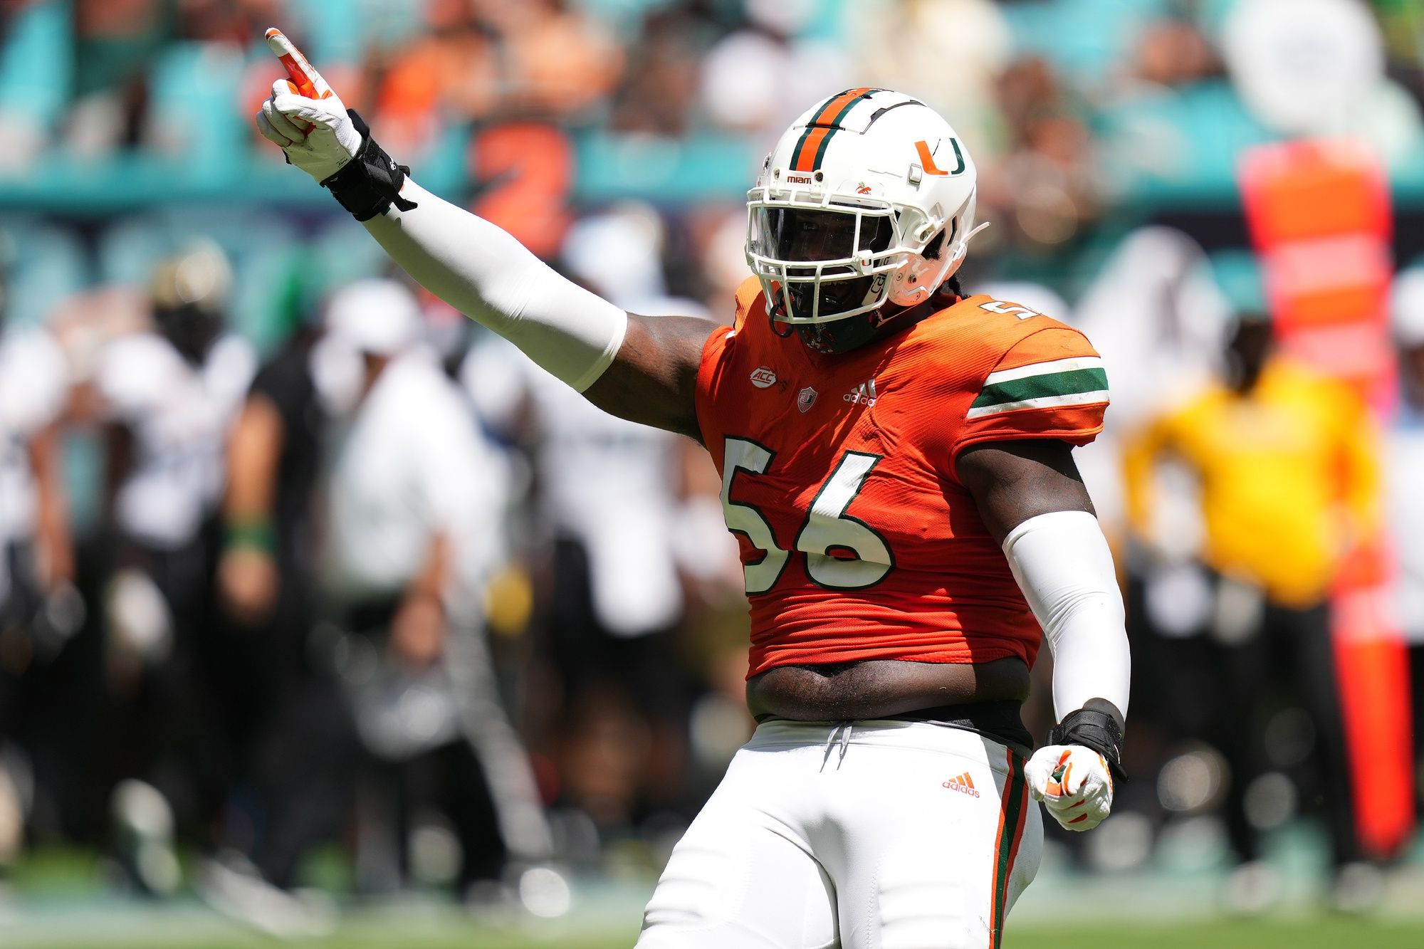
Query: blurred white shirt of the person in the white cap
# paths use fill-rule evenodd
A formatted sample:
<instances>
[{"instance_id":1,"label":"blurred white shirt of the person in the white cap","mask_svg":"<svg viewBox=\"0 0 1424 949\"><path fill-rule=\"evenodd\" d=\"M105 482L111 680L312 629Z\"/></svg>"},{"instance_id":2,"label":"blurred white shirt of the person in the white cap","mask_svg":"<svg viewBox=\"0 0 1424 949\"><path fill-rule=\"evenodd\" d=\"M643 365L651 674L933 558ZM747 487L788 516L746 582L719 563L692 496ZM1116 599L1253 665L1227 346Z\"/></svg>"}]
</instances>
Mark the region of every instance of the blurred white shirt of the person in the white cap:
<instances>
[{"instance_id":1,"label":"blurred white shirt of the person in the white cap","mask_svg":"<svg viewBox=\"0 0 1424 949\"><path fill-rule=\"evenodd\" d=\"M426 351L397 356L356 408L330 474L328 579L350 598L399 594L430 539L453 546L459 604L504 554L504 457Z\"/></svg>"}]
</instances>

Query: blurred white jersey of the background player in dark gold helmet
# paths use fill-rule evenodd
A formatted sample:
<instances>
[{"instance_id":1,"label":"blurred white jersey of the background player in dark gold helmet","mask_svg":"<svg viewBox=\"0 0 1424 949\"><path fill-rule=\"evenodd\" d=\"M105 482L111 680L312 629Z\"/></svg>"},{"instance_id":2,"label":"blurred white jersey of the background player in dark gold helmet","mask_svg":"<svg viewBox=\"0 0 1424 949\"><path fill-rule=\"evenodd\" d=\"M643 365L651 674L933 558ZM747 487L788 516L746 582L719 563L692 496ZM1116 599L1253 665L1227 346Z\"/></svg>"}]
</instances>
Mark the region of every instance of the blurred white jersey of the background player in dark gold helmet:
<instances>
[{"instance_id":1,"label":"blurred white jersey of the background player in dark gold helmet","mask_svg":"<svg viewBox=\"0 0 1424 949\"><path fill-rule=\"evenodd\" d=\"M256 355L236 336L218 339L201 366L157 333L108 346L98 390L112 420L134 433L115 512L124 533L162 550L197 536L222 496L228 430L255 372Z\"/></svg>"}]
</instances>

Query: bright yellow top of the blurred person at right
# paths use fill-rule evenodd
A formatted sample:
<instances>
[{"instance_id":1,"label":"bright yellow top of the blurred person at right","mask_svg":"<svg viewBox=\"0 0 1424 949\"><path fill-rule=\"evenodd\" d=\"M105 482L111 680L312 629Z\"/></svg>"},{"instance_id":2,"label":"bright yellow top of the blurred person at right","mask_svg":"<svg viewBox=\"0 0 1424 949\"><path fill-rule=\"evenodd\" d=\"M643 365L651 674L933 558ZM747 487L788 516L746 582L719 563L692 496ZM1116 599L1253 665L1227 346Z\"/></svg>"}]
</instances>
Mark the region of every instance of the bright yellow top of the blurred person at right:
<instances>
[{"instance_id":1,"label":"bright yellow top of the blurred person at right","mask_svg":"<svg viewBox=\"0 0 1424 949\"><path fill-rule=\"evenodd\" d=\"M1129 440L1128 516L1141 537L1165 453L1200 482L1203 560L1274 603L1323 600L1350 546L1377 527L1373 418L1353 390L1289 358L1270 358L1252 392L1208 386Z\"/></svg>"}]
</instances>

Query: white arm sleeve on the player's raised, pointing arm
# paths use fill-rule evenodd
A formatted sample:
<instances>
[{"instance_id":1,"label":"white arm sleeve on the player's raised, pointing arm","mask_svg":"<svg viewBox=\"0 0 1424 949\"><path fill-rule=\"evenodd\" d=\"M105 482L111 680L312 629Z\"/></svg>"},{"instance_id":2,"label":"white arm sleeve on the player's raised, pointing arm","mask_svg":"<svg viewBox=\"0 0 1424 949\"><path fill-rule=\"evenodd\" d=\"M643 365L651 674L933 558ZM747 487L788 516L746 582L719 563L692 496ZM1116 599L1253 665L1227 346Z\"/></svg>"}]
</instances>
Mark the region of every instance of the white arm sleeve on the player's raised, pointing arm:
<instances>
[{"instance_id":1,"label":"white arm sleeve on the player's raised, pointing arm","mask_svg":"<svg viewBox=\"0 0 1424 949\"><path fill-rule=\"evenodd\" d=\"M366 221L366 229L422 286L580 392L604 373L628 328L624 311L409 178L402 197L417 207L392 207Z\"/></svg>"}]
</instances>

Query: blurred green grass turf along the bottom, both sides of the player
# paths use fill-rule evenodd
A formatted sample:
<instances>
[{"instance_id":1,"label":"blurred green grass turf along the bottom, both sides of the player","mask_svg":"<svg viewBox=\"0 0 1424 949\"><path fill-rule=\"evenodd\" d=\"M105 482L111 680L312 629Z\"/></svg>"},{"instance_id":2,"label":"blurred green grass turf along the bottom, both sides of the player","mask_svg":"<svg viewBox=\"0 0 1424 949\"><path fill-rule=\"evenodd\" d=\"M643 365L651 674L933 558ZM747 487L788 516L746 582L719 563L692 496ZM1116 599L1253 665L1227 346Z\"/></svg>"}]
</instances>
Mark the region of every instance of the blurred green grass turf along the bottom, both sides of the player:
<instances>
[{"instance_id":1,"label":"blurred green grass turf along the bottom, both sides of the player","mask_svg":"<svg viewBox=\"0 0 1424 949\"><path fill-rule=\"evenodd\" d=\"M1047 859L1014 908L1004 946L1424 949L1424 846L1391 868L1376 915L1343 916L1323 909L1320 854L1300 841L1276 848L1280 902L1247 921L1220 916L1226 878L1219 866L1159 862L1131 873L1085 875L1061 855ZM572 911L551 922L511 911L476 916L436 893L359 902L330 896L315 906L336 913L333 935L279 942L216 912L197 892L165 902L125 896L100 868L94 854L33 854L0 881L0 949L629 949L652 889L652 878L638 873L572 878Z\"/></svg>"}]
</instances>

